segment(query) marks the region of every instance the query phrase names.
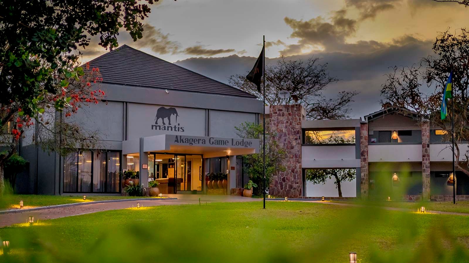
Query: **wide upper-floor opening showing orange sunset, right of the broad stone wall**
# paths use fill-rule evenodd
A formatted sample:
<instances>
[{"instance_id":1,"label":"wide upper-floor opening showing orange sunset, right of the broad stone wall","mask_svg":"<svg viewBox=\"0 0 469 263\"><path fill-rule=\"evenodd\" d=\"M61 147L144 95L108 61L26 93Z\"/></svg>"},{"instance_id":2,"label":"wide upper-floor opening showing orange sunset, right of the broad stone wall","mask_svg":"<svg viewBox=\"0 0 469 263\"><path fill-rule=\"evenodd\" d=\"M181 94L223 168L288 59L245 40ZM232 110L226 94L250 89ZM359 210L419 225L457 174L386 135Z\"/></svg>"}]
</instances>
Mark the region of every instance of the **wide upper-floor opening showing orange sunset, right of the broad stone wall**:
<instances>
[{"instance_id":1,"label":"wide upper-floor opening showing orange sunset, right of the broad stone wall","mask_svg":"<svg viewBox=\"0 0 469 263\"><path fill-rule=\"evenodd\" d=\"M305 131L305 144L345 144L355 143L355 130Z\"/></svg>"}]
</instances>

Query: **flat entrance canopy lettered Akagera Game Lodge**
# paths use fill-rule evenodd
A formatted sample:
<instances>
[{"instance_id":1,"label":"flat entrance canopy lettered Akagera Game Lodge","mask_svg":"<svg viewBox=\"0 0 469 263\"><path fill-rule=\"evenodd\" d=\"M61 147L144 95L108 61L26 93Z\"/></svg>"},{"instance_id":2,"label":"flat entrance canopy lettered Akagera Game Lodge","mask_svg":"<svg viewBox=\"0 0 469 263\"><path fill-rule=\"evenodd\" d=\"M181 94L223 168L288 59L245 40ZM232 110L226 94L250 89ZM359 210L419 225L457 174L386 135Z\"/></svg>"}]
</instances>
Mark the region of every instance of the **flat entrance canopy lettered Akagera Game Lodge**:
<instances>
[{"instance_id":1,"label":"flat entrance canopy lettered Akagera Game Lodge","mask_svg":"<svg viewBox=\"0 0 469 263\"><path fill-rule=\"evenodd\" d=\"M163 134L123 141L122 153L138 153L143 147L143 152L203 154L204 158L212 158L259 153L259 146L257 139Z\"/></svg>"}]
</instances>

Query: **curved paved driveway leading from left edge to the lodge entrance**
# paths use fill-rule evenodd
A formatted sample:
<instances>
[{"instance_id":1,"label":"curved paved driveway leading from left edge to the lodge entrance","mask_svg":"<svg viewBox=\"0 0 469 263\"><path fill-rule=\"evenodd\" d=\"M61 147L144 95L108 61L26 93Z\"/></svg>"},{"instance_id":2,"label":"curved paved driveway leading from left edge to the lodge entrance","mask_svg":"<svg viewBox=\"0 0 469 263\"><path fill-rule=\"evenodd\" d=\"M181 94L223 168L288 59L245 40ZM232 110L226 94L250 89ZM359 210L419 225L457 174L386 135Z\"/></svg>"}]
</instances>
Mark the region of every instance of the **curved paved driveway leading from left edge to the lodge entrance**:
<instances>
[{"instance_id":1,"label":"curved paved driveway leading from left edge to the lodge entrance","mask_svg":"<svg viewBox=\"0 0 469 263\"><path fill-rule=\"evenodd\" d=\"M166 197L166 195L165 195ZM139 201L128 201L123 200L121 202L112 203L83 203L81 205L66 206L66 207L53 207L36 211L25 211L15 212L9 214L0 215L0 227L11 226L18 223L26 223L30 216L34 217L34 220L44 219L56 219L61 217L76 216L82 214L89 214L94 212L101 212L107 210L125 209L129 207L135 207L137 202L140 205L146 206L158 206L158 205L188 205L198 204L199 197L202 204L212 202L250 202L258 201L258 199L248 197L237 197L237 196L208 196L208 195L167 195L167 197L175 197L177 200L165 200L165 199L146 199Z\"/></svg>"}]
</instances>

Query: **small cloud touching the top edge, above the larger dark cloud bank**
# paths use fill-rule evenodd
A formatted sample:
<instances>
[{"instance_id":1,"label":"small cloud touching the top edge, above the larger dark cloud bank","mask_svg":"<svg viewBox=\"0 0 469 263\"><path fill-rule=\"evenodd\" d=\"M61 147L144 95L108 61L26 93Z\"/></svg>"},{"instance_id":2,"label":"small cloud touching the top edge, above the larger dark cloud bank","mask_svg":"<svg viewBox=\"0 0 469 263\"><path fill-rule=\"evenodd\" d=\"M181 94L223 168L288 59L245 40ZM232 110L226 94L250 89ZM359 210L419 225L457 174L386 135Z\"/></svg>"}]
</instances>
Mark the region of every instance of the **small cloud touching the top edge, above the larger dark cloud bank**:
<instances>
[{"instance_id":1,"label":"small cloud touching the top edge, above the larger dark cloud bank","mask_svg":"<svg viewBox=\"0 0 469 263\"><path fill-rule=\"evenodd\" d=\"M359 20L375 18L385 10L393 9L401 0L346 0L346 7L355 7L360 12Z\"/></svg>"}]
</instances>

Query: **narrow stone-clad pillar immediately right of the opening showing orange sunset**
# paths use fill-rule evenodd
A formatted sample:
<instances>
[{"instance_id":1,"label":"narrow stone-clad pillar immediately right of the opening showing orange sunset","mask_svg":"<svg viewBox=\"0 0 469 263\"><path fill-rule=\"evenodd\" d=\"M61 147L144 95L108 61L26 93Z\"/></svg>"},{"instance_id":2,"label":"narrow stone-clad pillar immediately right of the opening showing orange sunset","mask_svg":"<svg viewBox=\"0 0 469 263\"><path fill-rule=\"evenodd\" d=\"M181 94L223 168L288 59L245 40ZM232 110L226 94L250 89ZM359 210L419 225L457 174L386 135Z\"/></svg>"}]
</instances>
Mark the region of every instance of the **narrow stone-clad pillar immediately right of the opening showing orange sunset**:
<instances>
[{"instance_id":1,"label":"narrow stone-clad pillar immediately right of the opening showing orange sunset","mask_svg":"<svg viewBox=\"0 0 469 263\"><path fill-rule=\"evenodd\" d=\"M369 197L368 173L368 123L360 124L360 194L362 198Z\"/></svg>"}]
</instances>

